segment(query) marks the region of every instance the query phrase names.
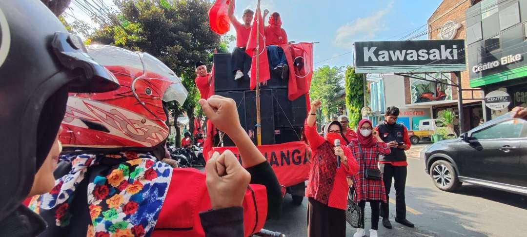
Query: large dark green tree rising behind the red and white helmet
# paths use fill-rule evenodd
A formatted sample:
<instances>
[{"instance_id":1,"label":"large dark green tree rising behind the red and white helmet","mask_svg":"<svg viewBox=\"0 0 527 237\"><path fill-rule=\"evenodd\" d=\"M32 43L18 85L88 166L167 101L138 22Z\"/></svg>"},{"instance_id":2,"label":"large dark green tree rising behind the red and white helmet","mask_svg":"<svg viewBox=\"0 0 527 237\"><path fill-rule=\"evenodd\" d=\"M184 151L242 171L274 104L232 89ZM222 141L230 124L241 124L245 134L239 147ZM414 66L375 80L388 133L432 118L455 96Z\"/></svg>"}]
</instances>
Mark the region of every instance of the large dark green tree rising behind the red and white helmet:
<instances>
[{"instance_id":1,"label":"large dark green tree rising behind the red and white helmet","mask_svg":"<svg viewBox=\"0 0 527 237\"><path fill-rule=\"evenodd\" d=\"M91 16L100 21L89 41L147 52L181 76L189 96L183 105L170 103L174 124L184 111L194 129L199 91L194 83L194 63L207 61L214 49L222 49L220 36L210 30L207 0L115 0L116 12ZM227 43L228 44L228 43ZM225 47L226 48L226 47ZM210 68L210 67L209 67ZM176 129L179 142L180 131Z\"/></svg>"}]
</instances>

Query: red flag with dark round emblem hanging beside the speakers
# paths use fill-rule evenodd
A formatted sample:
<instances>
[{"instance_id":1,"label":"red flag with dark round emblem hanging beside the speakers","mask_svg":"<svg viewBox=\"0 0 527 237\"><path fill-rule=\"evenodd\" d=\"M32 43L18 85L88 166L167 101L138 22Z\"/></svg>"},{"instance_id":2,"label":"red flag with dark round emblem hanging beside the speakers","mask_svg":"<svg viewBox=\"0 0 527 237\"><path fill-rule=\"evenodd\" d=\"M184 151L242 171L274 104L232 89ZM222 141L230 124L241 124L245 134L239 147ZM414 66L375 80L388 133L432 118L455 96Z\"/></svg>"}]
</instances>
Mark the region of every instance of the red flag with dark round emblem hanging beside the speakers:
<instances>
[{"instance_id":1,"label":"red flag with dark round emblem hanging beside the speakers","mask_svg":"<svg viewBox=\"0 0 527 237\"><path fill-rule=\"evenodd\" d=\"M289 65L289 85L287 98L296 100L309 93L313 78L313 43L280 45L286 54ZM291 66L292 65L292 66Z\"/></svg>"}]
</instances>

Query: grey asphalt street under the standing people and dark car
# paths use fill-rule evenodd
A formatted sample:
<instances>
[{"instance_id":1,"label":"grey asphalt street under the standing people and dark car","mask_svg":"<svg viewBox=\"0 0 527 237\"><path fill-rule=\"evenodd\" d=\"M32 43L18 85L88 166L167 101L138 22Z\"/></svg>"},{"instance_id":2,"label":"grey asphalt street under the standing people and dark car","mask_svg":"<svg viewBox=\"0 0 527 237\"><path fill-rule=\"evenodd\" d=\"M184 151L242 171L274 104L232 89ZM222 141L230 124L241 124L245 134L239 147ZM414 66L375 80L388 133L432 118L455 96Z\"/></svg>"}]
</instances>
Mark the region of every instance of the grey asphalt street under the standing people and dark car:
<instances>
[{"instance_id":1,"label":"grey asphalt street under the standing people and dark car","mask_svg":"<svg viewBox=\"0 0 527 237\"><path fill-rule=\"evenodd\" d=\"M378 236L527 236L527 196L469 184L463 184L457 193L441 191L424 172L424 161L418 157L425 146L414 145L407 153L407 219L416 227L396 223L395 204L391 203L394 229L385 229L379 222ZM395 200L393 187L390 195L390 200ZM286 195L281 220L267 221L265 229L305 237L307 199L300 206L291 202L291 196ZM371 226L369 204L365 212L367 231ZM354 233L355 229L348 225L346 236Z\"/></svg>"}]
</instances>

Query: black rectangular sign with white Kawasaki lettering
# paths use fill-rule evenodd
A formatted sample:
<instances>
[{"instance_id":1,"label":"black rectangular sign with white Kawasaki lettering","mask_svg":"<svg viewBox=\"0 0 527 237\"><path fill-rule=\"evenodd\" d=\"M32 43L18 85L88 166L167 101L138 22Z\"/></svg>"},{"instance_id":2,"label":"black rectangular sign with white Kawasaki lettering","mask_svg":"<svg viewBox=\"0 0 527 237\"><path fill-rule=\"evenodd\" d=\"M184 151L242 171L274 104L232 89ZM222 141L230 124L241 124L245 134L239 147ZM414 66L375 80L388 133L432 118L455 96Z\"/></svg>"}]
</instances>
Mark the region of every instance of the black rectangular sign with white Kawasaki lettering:
<instances>
[{"instance_id":1,"label":"black rectangular sign with white Kawasaki lettering","mask_svg":"<svg viewBox=\"0 0 527 237\"><path fill-rule=\"evenodd\" d=\"M355 42L355 72L465 71L464 48L464 40Z\"/></svg>"}]
</instances>

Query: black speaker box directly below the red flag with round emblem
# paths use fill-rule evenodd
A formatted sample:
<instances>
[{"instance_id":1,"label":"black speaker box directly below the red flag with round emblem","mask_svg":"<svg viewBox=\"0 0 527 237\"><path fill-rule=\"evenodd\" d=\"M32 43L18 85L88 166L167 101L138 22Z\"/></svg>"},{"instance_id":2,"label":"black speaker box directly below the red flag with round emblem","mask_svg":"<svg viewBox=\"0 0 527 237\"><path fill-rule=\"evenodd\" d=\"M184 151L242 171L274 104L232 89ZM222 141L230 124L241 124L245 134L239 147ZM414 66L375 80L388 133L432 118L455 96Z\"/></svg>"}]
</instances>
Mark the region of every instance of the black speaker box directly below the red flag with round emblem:
<instances>
[{"instance_id":1,"label":"black speaker box directly below the red flag with round emblem","mask_svg":"<svg viewBox=\"0 0 527 237\"><path fill-rule=\"evenodd\" d=\"M307 117L306 95L295 101L287 98L287 89L273 90L272 97L275 110L275 127L304 126Z\"/></svg>"}]
</instances>

